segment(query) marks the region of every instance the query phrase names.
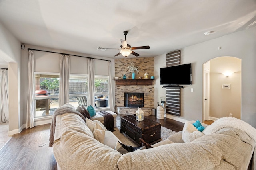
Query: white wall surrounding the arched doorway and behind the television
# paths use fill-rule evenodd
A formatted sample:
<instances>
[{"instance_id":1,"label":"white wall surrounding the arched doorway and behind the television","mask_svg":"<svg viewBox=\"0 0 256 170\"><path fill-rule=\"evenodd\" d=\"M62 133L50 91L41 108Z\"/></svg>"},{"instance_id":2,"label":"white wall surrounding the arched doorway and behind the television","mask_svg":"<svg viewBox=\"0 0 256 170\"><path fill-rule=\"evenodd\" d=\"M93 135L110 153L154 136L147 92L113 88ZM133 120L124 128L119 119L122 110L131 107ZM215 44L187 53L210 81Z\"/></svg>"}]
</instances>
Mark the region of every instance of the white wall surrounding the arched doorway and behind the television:
<instances>
[{"instance_id":1,"label":"white wall surrounding the arched doorway and behind the television","mask_svg":"<svg viewBox=\"0 0 256 170\"><path fill-rule=\"evenodd\" d=\"M166 117L182 122L202 121L202 65L215 57L232 56L242 59L241 119L256 127L256 27L186 47L181 49L181 55L181 64L192 63L192 85L181 90L181 116ZM160 97L165 96L159 78L162 67L165 67L165 54L155 57L155 108ZM190 92L190 88L194 92Z\"/></svg>"}]
</instances>

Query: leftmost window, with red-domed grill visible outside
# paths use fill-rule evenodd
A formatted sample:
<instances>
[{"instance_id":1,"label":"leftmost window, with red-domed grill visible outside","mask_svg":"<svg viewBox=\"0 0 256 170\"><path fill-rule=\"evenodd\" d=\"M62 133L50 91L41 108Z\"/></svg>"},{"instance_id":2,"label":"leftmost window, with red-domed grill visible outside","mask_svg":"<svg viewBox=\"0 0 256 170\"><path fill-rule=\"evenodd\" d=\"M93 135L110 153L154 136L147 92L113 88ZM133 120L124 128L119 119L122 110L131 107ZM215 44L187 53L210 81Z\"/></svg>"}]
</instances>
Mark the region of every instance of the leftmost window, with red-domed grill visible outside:
<instances>
[{"instance_id":1,"label":"leftmost window, with red-domed grill visible outside","mask_svg":"<svg viewBox=\"0 0 256 170\"><path fill-rule=\"evenodd\" d=\"M52 115L59 107L59 74L35 74L36 111L34 117Z\"/></svg>"}]
</instances>

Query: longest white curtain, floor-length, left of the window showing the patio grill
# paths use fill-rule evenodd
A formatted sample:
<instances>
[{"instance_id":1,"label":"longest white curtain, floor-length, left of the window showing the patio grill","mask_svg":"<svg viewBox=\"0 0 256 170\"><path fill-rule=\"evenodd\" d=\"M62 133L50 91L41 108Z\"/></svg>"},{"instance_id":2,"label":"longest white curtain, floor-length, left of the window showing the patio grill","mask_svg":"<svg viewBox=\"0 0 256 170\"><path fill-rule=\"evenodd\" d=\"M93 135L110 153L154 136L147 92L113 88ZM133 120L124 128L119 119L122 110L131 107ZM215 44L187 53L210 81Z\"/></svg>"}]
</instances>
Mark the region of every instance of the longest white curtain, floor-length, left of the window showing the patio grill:
<instances>
[{"instance_id":1,"label":"longest white curtain, floor-length, left of the window showing the patio grill","mask_svg":"<svg viewBox=\"0 0 256 170\"><path fill-rule=\"evenodd\" d=\"M34 127L35 94L34 94L34 53L28 51L28 102L26 128Z\"/></svg>"}]
</instances>

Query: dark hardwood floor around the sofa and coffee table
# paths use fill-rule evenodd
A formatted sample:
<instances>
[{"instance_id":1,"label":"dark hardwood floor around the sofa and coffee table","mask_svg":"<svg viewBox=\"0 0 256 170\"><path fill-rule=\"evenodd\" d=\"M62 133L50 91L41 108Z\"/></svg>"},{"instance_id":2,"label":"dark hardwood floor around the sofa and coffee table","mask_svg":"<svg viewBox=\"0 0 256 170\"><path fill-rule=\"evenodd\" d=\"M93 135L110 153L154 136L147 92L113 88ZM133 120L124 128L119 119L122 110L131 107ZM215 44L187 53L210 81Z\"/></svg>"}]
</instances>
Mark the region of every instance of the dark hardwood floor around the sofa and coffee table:
<instances>
[{"instance_id":1,"label":"dark hardwood floor around the sofa and coffee table","mask_svg":"<svg viewBox=\"0 0 256 170\"><path fill-rule=\"evenodd\" d=\"M117 119L121 116L125 115L118 115ZM176 132L184 126L184 123L171 119L160 120L153 115L145 117ZM23 129L21 133L14 134L0 149L0 170L57 170L53 150L48 147L49 136L50 124Z\"/></svg>"}]
</instances>

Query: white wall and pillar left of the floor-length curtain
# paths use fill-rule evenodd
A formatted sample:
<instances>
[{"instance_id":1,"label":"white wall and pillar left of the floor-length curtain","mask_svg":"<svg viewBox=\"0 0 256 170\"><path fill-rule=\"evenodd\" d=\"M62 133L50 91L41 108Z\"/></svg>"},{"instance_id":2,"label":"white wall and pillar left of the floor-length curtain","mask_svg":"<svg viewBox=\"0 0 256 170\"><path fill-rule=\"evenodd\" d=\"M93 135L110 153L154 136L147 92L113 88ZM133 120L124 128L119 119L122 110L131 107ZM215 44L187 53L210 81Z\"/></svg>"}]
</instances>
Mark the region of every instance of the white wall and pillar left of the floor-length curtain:
<instances>
[{"instance_id":1,"label":"white wall and pillar left of the floor-length curtain","mask_svg":"<svg viewBox=\"0 0 256 170\"><path fill-rule=\"evenodd\" d=\"M23 127L20 117L21 43L0 23L0 57L8 62L9 134Z\"/></svg>"}]
</instances>

